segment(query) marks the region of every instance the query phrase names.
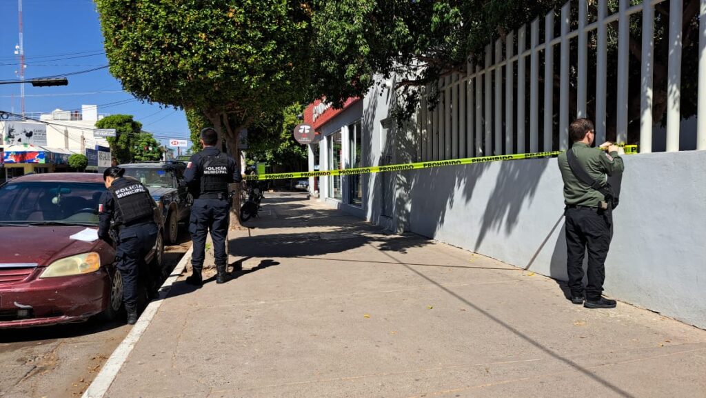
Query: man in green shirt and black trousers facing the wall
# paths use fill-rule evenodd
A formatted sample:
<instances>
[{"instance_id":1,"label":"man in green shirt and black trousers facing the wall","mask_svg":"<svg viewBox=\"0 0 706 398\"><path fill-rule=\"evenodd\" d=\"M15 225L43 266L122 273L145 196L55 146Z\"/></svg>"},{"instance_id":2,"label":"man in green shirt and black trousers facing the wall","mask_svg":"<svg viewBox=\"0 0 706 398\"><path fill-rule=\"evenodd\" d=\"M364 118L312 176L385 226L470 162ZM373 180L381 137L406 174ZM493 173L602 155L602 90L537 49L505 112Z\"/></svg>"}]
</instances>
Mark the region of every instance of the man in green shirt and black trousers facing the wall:
<instances>
[{"instance_id":1,"label":"man in green shirt and black trousers facing the wall","mask_svg":"<svg viewBox=\"0 0 706 398\"><path fill-rule=\"evenodd\" d=\"M595 132L588 119L576 119L571 123L569 135L574 143L569 151L578 160L573 163L574 168L582 168L595 181L594 185L587 184L578 176L580 170L572 170L568 151L559 155L566 204L566 268L571 301L583 304L585 308L615 308L615 300L602 296L606 276L604 263L613 236L613 204L611 197L606 195L606 175L622 172L625 168L620 157L624 154L623 149L609 142L593 148ZM584 290L583 258L586 250L588 283Z\"/></svg>"}]
</instances>

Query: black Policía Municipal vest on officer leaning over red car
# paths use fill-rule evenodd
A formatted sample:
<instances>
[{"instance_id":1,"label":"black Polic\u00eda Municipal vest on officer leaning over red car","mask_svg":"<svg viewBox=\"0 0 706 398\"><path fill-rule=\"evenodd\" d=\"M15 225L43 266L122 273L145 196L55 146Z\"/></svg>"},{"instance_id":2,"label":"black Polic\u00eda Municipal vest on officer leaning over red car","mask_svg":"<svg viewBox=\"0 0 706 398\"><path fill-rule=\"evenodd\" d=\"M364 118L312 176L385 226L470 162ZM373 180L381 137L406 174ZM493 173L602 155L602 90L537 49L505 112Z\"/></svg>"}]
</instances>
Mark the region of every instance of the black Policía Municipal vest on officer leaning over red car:
<instances>
[{"instance_id":1,"label":"black Polic\u00eda Municipal vest on officer leaning over red car","mask_svg":"<svg viewBox=\"0 0 706 398\"><path fill-rule=\"evenodd\" d=\"M126 225L154 217L155 200L144 185L135 180L119 178L108 188L115 203L116 225Z\"/></svg>"}]
</instances>

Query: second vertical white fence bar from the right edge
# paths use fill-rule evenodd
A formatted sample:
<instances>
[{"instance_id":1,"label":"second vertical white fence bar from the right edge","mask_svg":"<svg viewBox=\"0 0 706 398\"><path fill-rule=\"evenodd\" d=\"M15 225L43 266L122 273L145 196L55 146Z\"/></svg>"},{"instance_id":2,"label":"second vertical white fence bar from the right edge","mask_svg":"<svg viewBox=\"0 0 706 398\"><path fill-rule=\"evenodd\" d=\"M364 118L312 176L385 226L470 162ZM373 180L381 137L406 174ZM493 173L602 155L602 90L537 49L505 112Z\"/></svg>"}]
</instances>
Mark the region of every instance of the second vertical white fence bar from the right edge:
<instances>
[{"instance_id":1,"label":"second vertical white fence bar from the right edge","mask_svg":"<svg viewBox=\"0 0 706 398\"><path fill-rule=\"evenodd\" d=\"M669 0L669 59L667 61L666 151L679 150L681 122L681 20L682 0Z\"/></svg>"}]
</instances>

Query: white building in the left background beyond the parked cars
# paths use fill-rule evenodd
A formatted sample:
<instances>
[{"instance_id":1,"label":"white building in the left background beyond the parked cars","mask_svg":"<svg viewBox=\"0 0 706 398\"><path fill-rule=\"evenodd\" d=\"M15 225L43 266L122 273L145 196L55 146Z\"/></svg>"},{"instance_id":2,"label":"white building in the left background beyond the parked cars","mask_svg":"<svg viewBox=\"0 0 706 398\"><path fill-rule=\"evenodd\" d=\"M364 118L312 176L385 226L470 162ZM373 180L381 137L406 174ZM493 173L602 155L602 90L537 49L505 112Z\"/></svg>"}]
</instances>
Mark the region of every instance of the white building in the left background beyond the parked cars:
<instances>
[{"instance_id":1,"label":"white building in the left background beyond the parked cars","mask_svg":"<svg viewBox=\"0 0 706 398\"><path fill-rule=\"evenodd\" d=\"M78 110L56 109L40 115L47 124L47 146L64 148L72 153L85 153L95 146L108 146L108 141L95 136L95 124L105 115L98 113L97 105L81 105Z\"/></svg>"}]
</instances>

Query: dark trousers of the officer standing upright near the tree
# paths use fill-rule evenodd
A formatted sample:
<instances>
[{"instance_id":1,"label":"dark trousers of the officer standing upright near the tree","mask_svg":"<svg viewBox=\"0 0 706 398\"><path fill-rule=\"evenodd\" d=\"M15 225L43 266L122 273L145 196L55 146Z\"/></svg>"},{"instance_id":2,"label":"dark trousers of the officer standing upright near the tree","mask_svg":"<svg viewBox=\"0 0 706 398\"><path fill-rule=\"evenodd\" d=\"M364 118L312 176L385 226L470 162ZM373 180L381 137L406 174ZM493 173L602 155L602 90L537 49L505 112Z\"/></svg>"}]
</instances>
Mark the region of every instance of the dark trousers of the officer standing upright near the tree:
<instances>
[{"instance_id":1,"label":"dark trousers of the officer standing upright near the tree","mask_svg":"<svg viewBox=\"0 0 706 398\"><path fill-rule=\"evenodd\" d=\"M206 234L210 230L213 240L213 257L215 265L226 265L228 261L225 252L225 240L228 234L228 218L230 205L227 200L196 199L191 206L191 221L189 232L193 242L191 267L203 269L205 259Z\"/></svg>"}]
</instances>

